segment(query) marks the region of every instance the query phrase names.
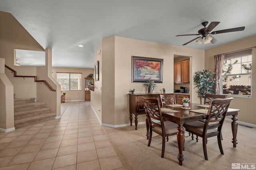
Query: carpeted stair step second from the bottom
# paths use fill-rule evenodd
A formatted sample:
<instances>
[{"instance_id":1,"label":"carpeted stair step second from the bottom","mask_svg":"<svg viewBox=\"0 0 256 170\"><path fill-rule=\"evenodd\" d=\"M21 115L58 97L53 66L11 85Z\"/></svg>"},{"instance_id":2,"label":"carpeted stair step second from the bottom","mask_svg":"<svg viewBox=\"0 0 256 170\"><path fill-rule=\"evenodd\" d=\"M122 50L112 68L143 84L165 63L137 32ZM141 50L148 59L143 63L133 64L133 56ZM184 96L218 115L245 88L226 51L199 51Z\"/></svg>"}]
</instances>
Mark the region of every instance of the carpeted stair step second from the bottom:
<instances>
[{"instance_id":1,"label":"carpeted stair step second from the bottom","mask_svg":"<svg viewBox=\"0 0 256 170\"><path fill-rule=\"evenodd\" d=\"M38 115L43 115L47 113L52 113L52 109L50 108L41 108L41 109L33 109L33 110L28 110L28 111L20 111L20 112L15 112L14 113L14 120L18 119L24 119L32 116L38 116Z\"/></svg>"}]
</instances>

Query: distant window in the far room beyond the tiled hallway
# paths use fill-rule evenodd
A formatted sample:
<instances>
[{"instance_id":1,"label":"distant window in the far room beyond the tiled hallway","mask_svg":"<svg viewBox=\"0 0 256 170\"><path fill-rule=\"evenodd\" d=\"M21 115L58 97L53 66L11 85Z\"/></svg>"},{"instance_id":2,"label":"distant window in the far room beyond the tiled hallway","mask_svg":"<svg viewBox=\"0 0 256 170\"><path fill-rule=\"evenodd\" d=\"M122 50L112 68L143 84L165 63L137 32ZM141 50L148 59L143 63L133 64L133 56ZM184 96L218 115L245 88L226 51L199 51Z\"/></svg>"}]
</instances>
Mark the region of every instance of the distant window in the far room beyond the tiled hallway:
<instances>
[{"instance_id":1,"label":"distant window in the far room beyond the tiled hallway","mask_svg":"<svg viewBox=\"0 0 256 170\"><path fill-rule=\"evenodd\" d=\"M57 82L63 85L61 90L82 90L82 73L57 72Z\"/></svg>"}]
</instances>

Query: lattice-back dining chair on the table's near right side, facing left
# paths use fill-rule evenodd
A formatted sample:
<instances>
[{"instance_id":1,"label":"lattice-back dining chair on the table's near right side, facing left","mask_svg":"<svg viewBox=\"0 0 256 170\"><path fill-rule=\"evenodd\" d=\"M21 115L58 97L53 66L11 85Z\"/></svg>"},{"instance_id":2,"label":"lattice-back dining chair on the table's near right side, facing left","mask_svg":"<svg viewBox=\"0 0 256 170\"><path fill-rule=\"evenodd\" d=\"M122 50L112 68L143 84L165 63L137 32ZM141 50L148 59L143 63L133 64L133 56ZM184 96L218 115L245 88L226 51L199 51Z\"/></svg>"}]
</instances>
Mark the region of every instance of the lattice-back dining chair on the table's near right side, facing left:
<instances>
[{"instance_id":1,"label":"lattice-back dining chair on the table's near right side, facing left","mask_svg":"<svg viewBox=\"0 0 256 170\"><path fill-rule=\"evenodd\" d=\"M198 136L202 137L205 160L208 160L206 144L209 137L217 136L220 153L224 154L221 143L221 129L231 100L233 98L213 99L210 102L205 122L192 121L183 124L186 131L195 134L196 138Z\"/></svg>"}]
</instances>

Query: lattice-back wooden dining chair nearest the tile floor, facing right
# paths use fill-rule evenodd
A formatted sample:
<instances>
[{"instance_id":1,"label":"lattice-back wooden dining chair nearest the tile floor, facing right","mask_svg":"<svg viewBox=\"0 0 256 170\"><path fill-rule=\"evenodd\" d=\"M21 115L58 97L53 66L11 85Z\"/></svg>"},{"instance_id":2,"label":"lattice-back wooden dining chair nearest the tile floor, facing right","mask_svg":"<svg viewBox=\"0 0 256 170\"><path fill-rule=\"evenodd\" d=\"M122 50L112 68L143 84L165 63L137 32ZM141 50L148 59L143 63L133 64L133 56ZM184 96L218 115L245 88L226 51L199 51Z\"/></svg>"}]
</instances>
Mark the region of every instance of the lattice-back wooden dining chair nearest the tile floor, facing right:
<instances>
[{"instance_id":1,"label":"lattice-back wooden dining chair nearest the tile floor, facing right","mask_svg":"<svg viewBox=\"0 0 256 170\"><path fill-rule=\"evenodd\" d=\"M152 132L162 136L161 157L163 158L165 150L165 138L171 135L176 135L178 132L178 125L176 123L163 120L160 101L158 98L143 98L143 101L146 111L146 123L147 126L149 126L148 147L150 146L152 140Z\"/></svg>"}]
</instances>

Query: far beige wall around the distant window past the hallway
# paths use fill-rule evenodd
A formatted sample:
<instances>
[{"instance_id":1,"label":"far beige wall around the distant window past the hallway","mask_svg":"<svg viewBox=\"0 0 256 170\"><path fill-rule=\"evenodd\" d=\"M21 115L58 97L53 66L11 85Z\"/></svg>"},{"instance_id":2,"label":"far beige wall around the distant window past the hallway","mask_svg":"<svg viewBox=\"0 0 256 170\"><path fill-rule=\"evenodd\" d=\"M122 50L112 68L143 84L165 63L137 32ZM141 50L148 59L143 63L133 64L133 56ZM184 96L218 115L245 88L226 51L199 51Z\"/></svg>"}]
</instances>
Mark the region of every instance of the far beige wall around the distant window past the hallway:
<instances>
[{"instance_id":1,"label":"far beige wall around the distant window past the hallway","mask_svg":"<svg viewBox=\"0 0 256 170\"><path fill-rule=\"evenodd\" d=\"M84 101L84 90L85 90L84 78L86 78L89 74L94 74L94 69L52 67L52 77L55 80L57 80L57 72L82 73L82 90L80 91L65 90L66 92L65 100L66 101Z\"/></svg>"}]
</instances>

